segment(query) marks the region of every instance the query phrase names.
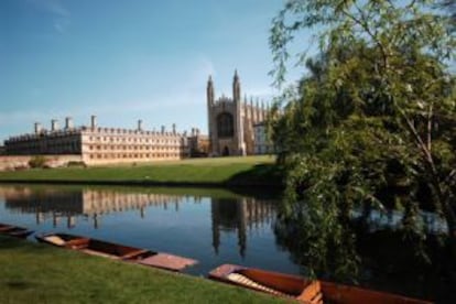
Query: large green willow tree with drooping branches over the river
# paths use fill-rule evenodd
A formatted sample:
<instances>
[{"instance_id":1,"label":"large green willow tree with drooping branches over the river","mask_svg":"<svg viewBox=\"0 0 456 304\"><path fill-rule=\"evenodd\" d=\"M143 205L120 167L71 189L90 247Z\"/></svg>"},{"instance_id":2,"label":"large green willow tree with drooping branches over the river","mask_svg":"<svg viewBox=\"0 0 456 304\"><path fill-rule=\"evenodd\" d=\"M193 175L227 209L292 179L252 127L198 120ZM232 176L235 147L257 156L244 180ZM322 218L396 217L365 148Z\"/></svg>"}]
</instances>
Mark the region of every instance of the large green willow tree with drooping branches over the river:
<instances>
[{"instance_id":1,"label":"large green willow tree with drooping branches over the river","mask_svg":"<svg viewBox=\"0 0 456 304\"><path fill-rule=\"evenodd\" d=\"M405 228L423 230L426 206L456 239L456 40L437 4L290 0L273 19L275 84L292 58L307 67L272 120L289 167L283 215L313 221L307 237L313 229L337 247L354 205L383 208L386 192L401 188L388 207L404 210ZM304 31L314 39L303 41ZM308 58L313 42L319 55Z\"/></svg>"}]
</instances>

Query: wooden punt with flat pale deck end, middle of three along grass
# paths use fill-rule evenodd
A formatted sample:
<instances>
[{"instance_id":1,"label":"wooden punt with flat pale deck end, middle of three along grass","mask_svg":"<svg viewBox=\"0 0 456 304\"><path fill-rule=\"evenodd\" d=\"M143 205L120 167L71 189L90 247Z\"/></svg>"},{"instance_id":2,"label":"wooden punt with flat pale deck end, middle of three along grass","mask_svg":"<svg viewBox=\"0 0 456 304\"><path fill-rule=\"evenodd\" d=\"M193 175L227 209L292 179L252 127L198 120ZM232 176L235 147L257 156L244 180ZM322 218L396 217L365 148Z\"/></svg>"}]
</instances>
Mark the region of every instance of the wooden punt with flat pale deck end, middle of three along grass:
<instances>
[{"instance_id":1,"label":"wooden punt with flat pale deck end, middle of three along grass","mask_svg":"<svg viewBox=\"0 0 456 304\"><path fill-rule=\"evenodd\" d=\"M46 234L35 236L35 238L40 242L77 250L91 256L98 256L115 260L123 260L141 265L160 268L171 271L182 271L186 267L194 265L197 263L196 260L170 253L154 252L146 249L129 247L67 234Z\"/></svg>"}]
</instances>

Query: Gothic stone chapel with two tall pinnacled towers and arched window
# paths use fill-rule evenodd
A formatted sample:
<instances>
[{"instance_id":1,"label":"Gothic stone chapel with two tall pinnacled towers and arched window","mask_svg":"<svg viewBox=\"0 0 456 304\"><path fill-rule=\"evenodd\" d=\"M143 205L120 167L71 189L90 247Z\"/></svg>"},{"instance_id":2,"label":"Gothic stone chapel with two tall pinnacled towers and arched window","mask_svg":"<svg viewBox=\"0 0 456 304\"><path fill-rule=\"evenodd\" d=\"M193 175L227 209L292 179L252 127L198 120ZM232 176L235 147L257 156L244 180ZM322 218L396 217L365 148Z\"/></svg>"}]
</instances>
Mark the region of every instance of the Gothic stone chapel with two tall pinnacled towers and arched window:
<instances>
[{"instance_id":1,"label":"Gothic stone chapel with two tall pinnacled towers and arched window","mask_svg":"<svg viewBox=\"0 0 456 304\"><path fill-rule=\"evenodd\" d=\"M238 73L232 80L232 98L221 96L215 100L214 84L207 82L207 112L211 155L254 154L253 124L265 120L268 110L264 104L253 106L246 98L241 100Z\"/></svg>"}]
</instances>

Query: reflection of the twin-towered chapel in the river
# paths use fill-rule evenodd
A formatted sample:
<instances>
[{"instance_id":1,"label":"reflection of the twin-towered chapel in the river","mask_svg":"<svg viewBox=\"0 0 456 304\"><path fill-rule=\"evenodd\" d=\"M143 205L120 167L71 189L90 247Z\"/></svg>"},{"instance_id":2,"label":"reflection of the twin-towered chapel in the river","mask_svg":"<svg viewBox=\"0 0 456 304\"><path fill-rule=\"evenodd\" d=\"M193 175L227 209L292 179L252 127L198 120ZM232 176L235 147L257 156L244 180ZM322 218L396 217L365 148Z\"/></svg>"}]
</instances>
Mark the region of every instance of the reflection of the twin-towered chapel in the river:
<instances>
[{"instance_id":1,"label":"reflection of the twin-towered chapel in the river","mask_svg":"<svg viewBox=\"0 0 456 304\"><path fill-rule=\"evenodd\" d=\"M215 199L211 202L213 246L216 253L220 246L220 230L237 230L239 253L243 257L247 231L270 222L275 217L271 202L254 198Z\"/></svg>"}]
</instances>

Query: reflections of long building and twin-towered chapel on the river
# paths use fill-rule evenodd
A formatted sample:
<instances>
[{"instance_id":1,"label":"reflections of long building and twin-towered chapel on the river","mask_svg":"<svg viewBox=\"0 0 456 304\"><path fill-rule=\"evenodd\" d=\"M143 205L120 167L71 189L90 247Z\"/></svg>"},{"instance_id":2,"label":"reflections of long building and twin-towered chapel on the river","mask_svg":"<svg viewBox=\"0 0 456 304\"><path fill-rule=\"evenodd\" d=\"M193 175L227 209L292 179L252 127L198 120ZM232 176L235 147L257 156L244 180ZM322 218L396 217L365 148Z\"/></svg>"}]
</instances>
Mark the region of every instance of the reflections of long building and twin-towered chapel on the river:
<instances>
[{"instance_id":1,"label":"reflections of long building and twin-towered chapel on the river","mask_svg":"<svg viewBox=\"0 0 456 304\"><path fill-rule=\"evenodd\" d=\"M180 211L182 204L189 200L200 204L204 196L182 196L161 193L128 193L106 188L31 188L0 187L0 198L8 210L19 214L33 214L36 225L52 221L57 228L66 222L66 228L77 226L78 218L91 222L93 228L102 226L102 217L115 213L137 211L137 217L145 218L150 207ZM213 249L219 253L221 232L235 232L238 250L246 256L247 237L252 229L270 227L275 217L271 199L253 197L213 198L210 199Z\"/></svg>"}]
</instances>

